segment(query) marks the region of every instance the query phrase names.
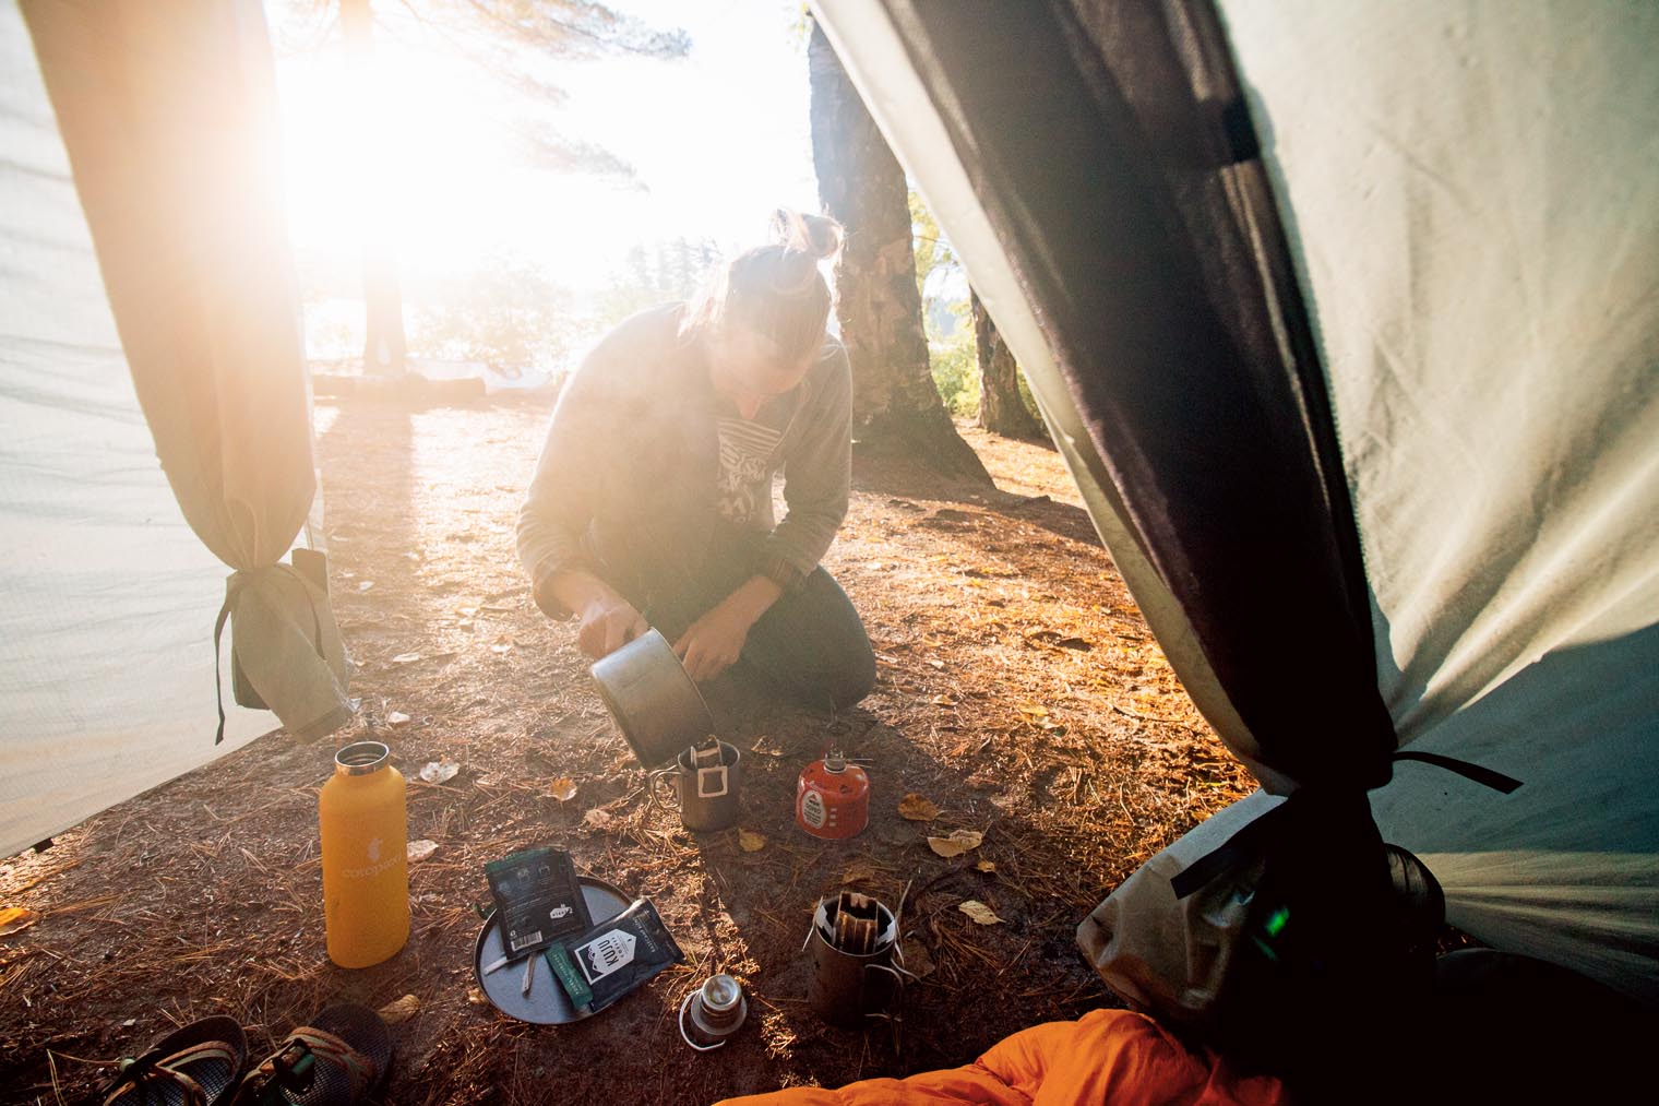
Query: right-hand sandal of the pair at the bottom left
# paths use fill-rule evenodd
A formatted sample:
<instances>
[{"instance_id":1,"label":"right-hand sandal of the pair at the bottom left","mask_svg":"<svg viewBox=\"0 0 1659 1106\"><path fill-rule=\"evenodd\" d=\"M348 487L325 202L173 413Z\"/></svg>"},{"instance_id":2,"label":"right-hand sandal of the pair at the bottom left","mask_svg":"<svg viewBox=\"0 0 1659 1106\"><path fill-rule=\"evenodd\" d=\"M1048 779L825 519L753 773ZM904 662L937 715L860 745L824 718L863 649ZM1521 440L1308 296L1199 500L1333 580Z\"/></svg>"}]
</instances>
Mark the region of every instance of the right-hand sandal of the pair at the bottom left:
<instances>
[{"instance_id":1,"label":"right-hand sandal of the pair at the bottom left","mask_svg":"<svg viewBox=\"0 0 1659 1106\"><path fill-rule=\"evenodd\" d=\"M392 1035L373 1010L328 1006L247 1073L232 1106L357 1106L385 1089Z\"/></svg>"}]
</instances>

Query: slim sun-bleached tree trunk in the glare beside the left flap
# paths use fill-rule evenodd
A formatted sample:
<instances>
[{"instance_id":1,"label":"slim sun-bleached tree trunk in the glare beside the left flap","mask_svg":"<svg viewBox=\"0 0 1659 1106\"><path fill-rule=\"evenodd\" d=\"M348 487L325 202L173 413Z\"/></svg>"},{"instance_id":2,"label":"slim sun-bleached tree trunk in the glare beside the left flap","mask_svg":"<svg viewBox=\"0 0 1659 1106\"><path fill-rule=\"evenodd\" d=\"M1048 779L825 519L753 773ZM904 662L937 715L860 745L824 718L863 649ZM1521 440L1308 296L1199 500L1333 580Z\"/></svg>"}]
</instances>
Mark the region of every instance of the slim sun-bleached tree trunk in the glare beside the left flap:
<instances>
[{"instance_id":1,"label":"slim sun-bleached tree trunk in the glare beside the left flap","mask_svg":"<svg viewBox=\"0 0 1659 1106\"><path fill-rule=\"evenodd\" d=\"M370 0L340 0L340 35L345 38L350 65L360 78L358 86L367 86L373 80L370 70L375 56L375 17ZM373 118L368 103L350 105L350 110L358 113L358 126L365 136L358 146L362 161L355 169L367 186L365 194L373 198L385 188L380 143L375 141L380 121ZM405 364L408 342L403 334L403 289L398 284L397 262L392 259L390 236L373 209L360 211L358 218L363 221L363 372L401 377L408 369Z\"/></svg>"}]
</instances>

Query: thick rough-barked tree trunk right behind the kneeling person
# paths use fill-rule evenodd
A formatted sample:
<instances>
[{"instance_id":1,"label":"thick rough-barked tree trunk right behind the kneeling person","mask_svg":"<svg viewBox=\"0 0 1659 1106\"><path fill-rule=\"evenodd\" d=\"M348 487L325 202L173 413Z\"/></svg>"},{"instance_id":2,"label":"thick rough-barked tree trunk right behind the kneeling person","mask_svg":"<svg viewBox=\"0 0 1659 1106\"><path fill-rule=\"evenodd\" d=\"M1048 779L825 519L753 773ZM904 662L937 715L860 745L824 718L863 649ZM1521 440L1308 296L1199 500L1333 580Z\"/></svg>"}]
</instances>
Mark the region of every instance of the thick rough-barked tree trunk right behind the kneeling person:
<instances>
[{"instance_id":1,"label":"thick rough-barked tree trunk right behind the kneeling person","mask_svg":"<svg viewBox=\"0 0 1659 1106\"><path fill-rule=\"evenodd\" d=\"M956 432L927 364L904 169L816 25L806 56L818 196L846 228L836 317L853 362L853 437L990 483Z\"/></svg>"}]
</instances>

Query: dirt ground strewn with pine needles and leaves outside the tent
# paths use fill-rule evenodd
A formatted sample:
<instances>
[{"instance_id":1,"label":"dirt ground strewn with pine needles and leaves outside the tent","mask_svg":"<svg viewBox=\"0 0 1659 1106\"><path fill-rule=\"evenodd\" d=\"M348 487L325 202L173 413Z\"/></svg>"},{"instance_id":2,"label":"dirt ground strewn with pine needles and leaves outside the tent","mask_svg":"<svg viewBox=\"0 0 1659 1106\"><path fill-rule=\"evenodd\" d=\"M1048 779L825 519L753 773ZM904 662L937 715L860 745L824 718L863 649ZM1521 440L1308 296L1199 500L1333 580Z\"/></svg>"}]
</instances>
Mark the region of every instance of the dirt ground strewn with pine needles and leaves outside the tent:
<instances>
[{"instance_id":1,"label":"dirt ground strewn with pine needles and leaves outside the tent","mask_svg":"<svg viewBox=\"0 0 1659 1106\"><path fill-rule=\"evenodd\" d=\"M0 1101L76 1103L184 1021L229 1013L255 1056L328 1001L383 1006L390 1103L708 1103L972 1061L1035 1021L1115 1005L1073 943L1123 877L1253 787L1196 714L1047 448L964 428L997 492L859 457L826 560L869 628L874 694L838 717L717 688L745 749L742 829L692 835L645 800L574 646L542 618L513 525L544 400L425 407L319 402L335 606L357 721L300 746L282 732L0 864L0 907L40 920L0 938ZM406 659L420 654L420 659ZM317 792L333 751L392 746L410 779L405 950L360 971L324 950ZM871 824L846 842L793 822L796 777L836 744L869 761ZM453 759L443 784L420 769ZM564 787L576 794L561 799ZM557 794L556 794L557 792ZM899 802L922 795L929 822ZM927 837L979 830L961 857ZM481 1001L483 865L552 844L649 897L687 953L617 1006L534 1026ZM748 840L753 845L753 839ZM904 897L901 1028L825 1026L806 1005L813 905L843 885ZM990 907L980 925L959 910ZM720 1051L679 1036L680 1000L740 976L750 1020ZM410 1005L410 1003L406 1003Z\"/></svg>"}]
</instances>

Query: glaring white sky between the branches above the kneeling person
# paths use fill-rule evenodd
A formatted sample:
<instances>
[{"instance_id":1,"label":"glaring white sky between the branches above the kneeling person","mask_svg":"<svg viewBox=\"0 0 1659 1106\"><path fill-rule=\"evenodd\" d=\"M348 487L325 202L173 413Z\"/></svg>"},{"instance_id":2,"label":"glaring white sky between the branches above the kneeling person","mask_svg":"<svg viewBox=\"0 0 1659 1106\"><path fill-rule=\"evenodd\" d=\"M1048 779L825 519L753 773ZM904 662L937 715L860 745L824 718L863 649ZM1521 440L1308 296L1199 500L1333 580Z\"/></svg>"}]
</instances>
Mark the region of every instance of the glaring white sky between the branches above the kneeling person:
<instances>
[{"instance_id":1,"label":"glaring white sky between the branches above the kneeling person","mask_svg":"<svg viewBox=\"0 0 1659 1106\"><path fill-rule=\"evenodd\" d=\"M272 23L294 0L267 0ZM418 7L418 5L416 5ZM348 171L365 128L350 108L338 35L279 53L290 228L312 264L360 264L363 211L382 219L406 281L466 272L514 252L559 284L594 289L629 246L685 236L725 249L763 241L775 206L816 209L798 0L617 0L659 28L684 28L680 61L549 61L569 91L556 123L474 65L377 38L387 186L363 203ZM401 5L378 0L387 18ZM415 38L411 35L411 38ZM644 184L556 174L524 164L514 123L542 118L609 149Z\"/></svg>"}]
</instances>

